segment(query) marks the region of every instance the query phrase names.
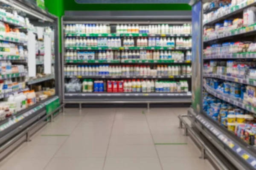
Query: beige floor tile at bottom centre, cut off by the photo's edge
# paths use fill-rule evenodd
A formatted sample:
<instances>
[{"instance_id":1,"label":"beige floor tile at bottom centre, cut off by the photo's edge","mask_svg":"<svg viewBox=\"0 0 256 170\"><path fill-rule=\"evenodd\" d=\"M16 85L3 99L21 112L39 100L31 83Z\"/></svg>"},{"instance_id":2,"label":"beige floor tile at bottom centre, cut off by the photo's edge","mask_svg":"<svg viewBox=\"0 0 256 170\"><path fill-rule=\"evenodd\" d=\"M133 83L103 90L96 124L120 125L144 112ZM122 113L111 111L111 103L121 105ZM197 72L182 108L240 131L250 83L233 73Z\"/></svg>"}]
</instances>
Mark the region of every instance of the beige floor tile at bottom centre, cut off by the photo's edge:
<instances>
[{"instance_id":1,"label":"beige floor tile at bottom centre, cut off by the photo's edge","mask_svg":"<svg viewBox=\"0 0 256 170\"><path fill-rule=\"evenodd\" d=\"M161 170L161 166L157 157L107 158L103 170Z\"/></svg>"}]
</instances>

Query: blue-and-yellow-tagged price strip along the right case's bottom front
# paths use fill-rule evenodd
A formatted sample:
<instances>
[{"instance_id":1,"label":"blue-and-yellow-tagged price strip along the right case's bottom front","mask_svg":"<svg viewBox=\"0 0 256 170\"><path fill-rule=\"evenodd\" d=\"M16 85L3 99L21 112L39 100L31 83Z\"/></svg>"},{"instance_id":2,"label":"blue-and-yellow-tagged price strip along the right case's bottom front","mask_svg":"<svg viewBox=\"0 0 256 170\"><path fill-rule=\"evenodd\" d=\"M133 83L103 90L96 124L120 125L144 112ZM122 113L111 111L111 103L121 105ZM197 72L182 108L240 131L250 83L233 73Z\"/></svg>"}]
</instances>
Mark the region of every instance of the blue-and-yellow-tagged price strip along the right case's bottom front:
<instances>
[{"instance_id":1,"label":"blue-and-yellow-tagged price strip along the right case's bottom front","mask_svg":"<svg viewBox=\"0 0 256 170\"><path fill-rule=\"evenodd\" d=\"M209 131L211 131L218 139L221 140L225 144L225 146L229 147L233 150L234 153L238 154L242 159L247 161L252 167L256 169L256 158L250 155L246 150L241 148L239 144L229 139L226 135L224 135L220 130L215 128L210 122L204 119L201 115L197 115L196 119L201 122Z\"/></svg>"}]
</instances>

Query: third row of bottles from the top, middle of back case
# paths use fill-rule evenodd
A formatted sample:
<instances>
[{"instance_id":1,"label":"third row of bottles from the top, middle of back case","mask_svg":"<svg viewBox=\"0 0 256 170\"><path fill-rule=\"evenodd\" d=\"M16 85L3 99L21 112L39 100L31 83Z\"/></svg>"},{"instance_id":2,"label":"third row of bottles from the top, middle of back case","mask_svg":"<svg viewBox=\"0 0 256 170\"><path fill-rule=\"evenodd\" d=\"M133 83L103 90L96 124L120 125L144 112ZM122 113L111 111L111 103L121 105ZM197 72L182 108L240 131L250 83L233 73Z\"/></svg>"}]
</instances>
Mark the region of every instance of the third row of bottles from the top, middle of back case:
<instances>
[{"instance_id":1,"label":"third row of bottles from the top, middle of back case","mask_svg":"<svg viewBox=\"0 0 256 170\"><path fill-rule=\"evenodd\" d=\"M191 51L69 51L65 53L66 60L110 60L110 59L173 59L174 61L190 61Z\"/></svg>"}]
</instances>

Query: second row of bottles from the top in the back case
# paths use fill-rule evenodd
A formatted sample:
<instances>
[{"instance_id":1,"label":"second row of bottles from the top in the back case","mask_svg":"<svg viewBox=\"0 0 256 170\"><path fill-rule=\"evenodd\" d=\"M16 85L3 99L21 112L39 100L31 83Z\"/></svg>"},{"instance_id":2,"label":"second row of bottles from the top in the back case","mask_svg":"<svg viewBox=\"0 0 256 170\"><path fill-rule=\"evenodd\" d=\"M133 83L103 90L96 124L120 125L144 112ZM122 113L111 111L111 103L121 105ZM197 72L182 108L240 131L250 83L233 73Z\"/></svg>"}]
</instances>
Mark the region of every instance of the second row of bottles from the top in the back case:
<instances>
[{"instance_id":1,"label":"second row of bottles from the top in the back case","mask_svg":"<svg viewBox=\"0 0 256 170\"><path fill-rule=\"evenodd\" d=\"M191 47L191 38L177 37L97 37L66 38L65 47Z\"/></svg>"}]
</instances>

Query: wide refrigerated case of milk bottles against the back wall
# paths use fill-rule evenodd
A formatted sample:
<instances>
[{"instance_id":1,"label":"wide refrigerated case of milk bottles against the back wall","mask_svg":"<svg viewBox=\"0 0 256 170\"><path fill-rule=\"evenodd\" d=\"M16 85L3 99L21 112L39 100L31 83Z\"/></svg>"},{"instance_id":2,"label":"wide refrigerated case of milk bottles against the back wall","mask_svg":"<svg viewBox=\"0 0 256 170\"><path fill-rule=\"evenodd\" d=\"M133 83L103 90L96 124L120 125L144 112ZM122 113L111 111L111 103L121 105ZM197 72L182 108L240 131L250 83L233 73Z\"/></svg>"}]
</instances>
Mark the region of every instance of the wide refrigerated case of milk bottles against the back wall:
<instances>
[{"instance_id":1,"label":"wide refrigerated case of milk bottles against the back wall","mask_svg":"<svg viewBox=\"0 0 256 170\"><path fill-rule=\"evenodd\" d=\"M61 21L64 103L191 103L191 16L70 13Z\"/></svg>"}]
</instances>

